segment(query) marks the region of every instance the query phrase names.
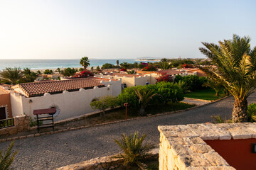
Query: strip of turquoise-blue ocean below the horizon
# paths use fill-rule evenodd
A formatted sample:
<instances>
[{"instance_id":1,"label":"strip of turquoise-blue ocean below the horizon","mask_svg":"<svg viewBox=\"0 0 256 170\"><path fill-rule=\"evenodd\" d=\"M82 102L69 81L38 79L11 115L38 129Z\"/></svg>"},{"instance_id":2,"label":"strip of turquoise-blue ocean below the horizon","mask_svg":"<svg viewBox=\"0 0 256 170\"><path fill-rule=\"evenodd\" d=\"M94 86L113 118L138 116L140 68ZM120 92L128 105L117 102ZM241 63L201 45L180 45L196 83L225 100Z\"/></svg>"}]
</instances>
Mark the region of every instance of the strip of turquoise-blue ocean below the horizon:
<instances>
[{"instance_id":1,"label":"strip of turquoise-blue ocean below the horizon","mask_svg":"<svg viewBox=\"0 0 256 170\"><path fill-rule=\"evenodd\" d=\"M135 59L117 59L117 60L106 60L106 59L89 59L89 67L102 66L105 63L119 64L122 62L134 63L140 62ZM0 70L6 67L20 67L21 69L56 69L56 68L67 68L67 67L82 67L80 64L80 59L77 60L0 60ZM154 62L154 61L151 61Z\"/></svg>"}]
</instances>

